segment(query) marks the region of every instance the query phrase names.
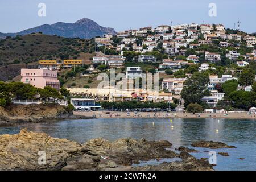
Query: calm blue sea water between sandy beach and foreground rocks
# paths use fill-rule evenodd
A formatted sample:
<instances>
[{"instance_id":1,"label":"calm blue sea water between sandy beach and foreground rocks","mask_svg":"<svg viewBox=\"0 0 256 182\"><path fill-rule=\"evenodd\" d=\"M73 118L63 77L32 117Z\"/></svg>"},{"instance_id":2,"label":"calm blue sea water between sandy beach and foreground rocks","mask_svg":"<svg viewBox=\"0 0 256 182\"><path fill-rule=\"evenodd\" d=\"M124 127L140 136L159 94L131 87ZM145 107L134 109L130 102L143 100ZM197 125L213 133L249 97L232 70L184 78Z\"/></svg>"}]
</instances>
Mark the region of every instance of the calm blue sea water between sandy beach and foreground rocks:
<instances>
[{"instance_id":1,"label":"calm blue sea water between sandy beach and foreground rocks","mask_svg":"<svg viewBox=\"0 0 256 182\"><path fill-rule=\"evenodd\" d=\"M172 128L171 125L174 127ZM193 141L220 141L237 148L214 150L217 153L228 152L229 154L229 156L218 155L217 166L214 169L256 170L256 120L173 118L172 123L169 119L153 118L64 120L0 127L0 135L17 134L24 127L31 131L43 131L52 137L68 138L81 143L98 137L108 140L132 137L168 140L174 145L172 148L179 146L193 148L191 147ZM216 129L219 130L218 133ZM192 153L196 158L209 158L207 151L212 151L209 148L196 149L200 151ZM245 160L238 158L245 158Z\"/></svg>"}]
</instances>

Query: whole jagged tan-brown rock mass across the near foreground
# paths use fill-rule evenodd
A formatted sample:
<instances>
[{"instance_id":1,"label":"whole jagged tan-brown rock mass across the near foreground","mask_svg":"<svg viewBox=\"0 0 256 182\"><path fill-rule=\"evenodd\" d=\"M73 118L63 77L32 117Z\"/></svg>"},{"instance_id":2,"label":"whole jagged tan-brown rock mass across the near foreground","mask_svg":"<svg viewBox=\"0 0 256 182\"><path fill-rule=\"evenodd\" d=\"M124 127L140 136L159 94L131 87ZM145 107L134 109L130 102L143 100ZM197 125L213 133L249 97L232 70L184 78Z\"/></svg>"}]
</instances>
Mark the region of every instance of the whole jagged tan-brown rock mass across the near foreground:
<instances>
[{"instance_id":1,"label":"whole jagged tan-brown rock mass across the near foreground","mask_svg":"<svg viewBox=\"0 0 256 182\"><path fill-rule=\"evenodd\" d=\"M187 152L166 150L167 141L134 140L109 142L101 138L84 144L28 132L0 136L1 170L212 170L208 162ZM45 153L44 153L45 152ZM43 155L46 154L45 163ZM159 166L133 167L141 160L180 158L181 161Z\"/></svg>"}]
</instances>

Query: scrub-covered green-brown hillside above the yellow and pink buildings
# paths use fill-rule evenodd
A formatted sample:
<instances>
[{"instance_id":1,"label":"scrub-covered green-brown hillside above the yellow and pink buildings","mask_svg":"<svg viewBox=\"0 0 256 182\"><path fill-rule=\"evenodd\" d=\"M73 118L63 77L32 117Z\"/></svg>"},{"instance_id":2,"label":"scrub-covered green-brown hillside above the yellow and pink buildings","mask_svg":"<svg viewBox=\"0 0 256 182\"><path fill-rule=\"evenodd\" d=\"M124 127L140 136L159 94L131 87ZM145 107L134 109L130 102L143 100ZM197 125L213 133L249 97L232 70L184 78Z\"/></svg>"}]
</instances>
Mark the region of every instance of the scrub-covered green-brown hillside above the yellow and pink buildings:
<instances>
[{"instance_id":1,"label":"scrub-covered green-brown hillside above the yellow and pink buildings","mask_svg":"<svg viewBox=\"0 0 256 182\"><path fill-rule=\"evenodd\" d=\"M32 67L38 60L82 59L92 54L90 40L60 36L29 34L0 40L0 80L7 81L20 74L20 68Z\"/></svg>"}]
</instances>

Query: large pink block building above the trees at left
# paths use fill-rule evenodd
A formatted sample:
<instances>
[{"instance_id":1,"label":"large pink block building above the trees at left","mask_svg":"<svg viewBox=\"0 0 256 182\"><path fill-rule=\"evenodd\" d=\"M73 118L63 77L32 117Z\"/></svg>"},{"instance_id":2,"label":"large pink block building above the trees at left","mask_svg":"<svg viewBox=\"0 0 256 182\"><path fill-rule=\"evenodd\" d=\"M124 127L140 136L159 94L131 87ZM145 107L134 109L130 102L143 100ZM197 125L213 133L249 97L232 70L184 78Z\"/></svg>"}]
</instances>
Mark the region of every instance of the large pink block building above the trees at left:
<instances>
[{"instance_id":1,"label":"large pink block building above the trees at left","mask_svg":"<svg viewBox=\"0 0 256 182\"><path fill-rule=\"evenodd\" d=\"M31 84L37 88L51 86L57 90L60 89L57 71L48 69L21 69L21 82Z\"/></svg>"}]
</instances>

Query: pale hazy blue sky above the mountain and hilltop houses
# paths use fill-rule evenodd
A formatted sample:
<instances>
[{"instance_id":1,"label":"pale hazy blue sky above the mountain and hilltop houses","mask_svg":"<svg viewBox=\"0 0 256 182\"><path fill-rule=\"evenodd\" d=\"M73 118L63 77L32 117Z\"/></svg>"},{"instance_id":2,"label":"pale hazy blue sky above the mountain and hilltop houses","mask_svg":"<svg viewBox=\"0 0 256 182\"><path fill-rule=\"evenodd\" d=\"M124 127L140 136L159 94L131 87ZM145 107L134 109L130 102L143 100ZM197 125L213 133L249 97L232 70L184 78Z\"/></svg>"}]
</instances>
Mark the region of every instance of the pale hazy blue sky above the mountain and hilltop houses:
<instances>
[{"instance_id":1,"label":"pale hazy blue sky above the mountain and hilltop houses","mask_svg":"<svg viewBox=\"0 0 256 182\"><path fill-rule=\"evenodd\" d=\"M46 4L46 17L38 4ZM209 3L217 16L210 17ZM228 28L256 32L255 0L0 0L0 32L18 32L41 24L73 23L89 18L116 31L160 24L220 23Z\"/></svg>"}]
</instances>

